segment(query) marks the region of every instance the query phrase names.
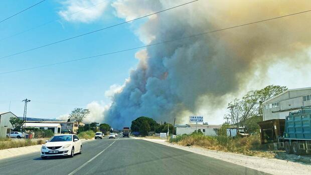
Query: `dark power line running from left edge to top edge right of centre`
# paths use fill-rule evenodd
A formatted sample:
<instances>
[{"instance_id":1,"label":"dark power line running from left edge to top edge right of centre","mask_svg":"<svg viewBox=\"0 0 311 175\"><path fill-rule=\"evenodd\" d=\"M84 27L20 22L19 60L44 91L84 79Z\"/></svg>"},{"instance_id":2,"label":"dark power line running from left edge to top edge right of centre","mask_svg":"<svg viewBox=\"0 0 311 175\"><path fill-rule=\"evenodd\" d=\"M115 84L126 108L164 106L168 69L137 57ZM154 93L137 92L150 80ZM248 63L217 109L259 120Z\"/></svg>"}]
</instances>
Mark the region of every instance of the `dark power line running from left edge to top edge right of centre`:
<instances>
[{"instance_id":1,"label":"dark power line running from left edge to top edge right of centre","mask_svg":"<svg viewBox=\"0 0 311 175\"><path fill-rule=\"evenodd\" d=\"M164 10L161 10L161 11L153 12L153 13L150 13L150 14L147 14L147 15L135 18L135 19L127 20L127 21L124 21L124 22L121 22L121 23L118 23L118 24L110 25L110 26L107 26L107 27L104 27L104 28L100 28L100 29L97 29L97 30L94 30L94 31L90 31L90 32L87 32L87 33L79 34L77 36L69 37L69 38L66 38L66 39L63 39L63 40L59 40L59 41L56 41L56 42L51 42L51 43L48 43L48 44L45 44L45 45L41 45L41 46L38 46L38 47L35 47L35 48L31 48L31 49L28 49L28 50L24 50L24 51L20 51L20 52L17 52L17 53L13 53L13 54L10 54L10 55L7 55L7 56L0 57L0 59L6 58L6 57L10 57L10 56L14 56L14 55L21 54L21 53L25 53L25 52L28 52L28 51L36 50L38 48L46 47L46 46L53 45L53 44L56 44L56 43L59 43L59 42L63 42L63 41L69 40L69 39L73 39L73 38L77 38L77 37L84 36L84 35L87 35L87 34L91 34L91 33L94 33L94 32L97 32L97 31L101 31L101 30L104 30L104 29L107 29L107 28L115 27L115 26L118 26L118 25L121 25L121 24L124 24L124 23L128 23L128 22L131 22L131 21L134 21L134 20L138 20L138 19L147 17L147 16L158 14L158 13L161 13L163 11L167 11L167 10L170 10L170 9L173 9L173 8L177 8L177 7L180 7L180 6L183 6L183 5L195 2L195 1L198 1L198 0L193 0L193 1L190 1L190 2L187 2L187 3L183 3L183 4L180 4L180 5L171 7L171 8L167 8L167 9L164 9Z\"/></svg>"}]
</instances>

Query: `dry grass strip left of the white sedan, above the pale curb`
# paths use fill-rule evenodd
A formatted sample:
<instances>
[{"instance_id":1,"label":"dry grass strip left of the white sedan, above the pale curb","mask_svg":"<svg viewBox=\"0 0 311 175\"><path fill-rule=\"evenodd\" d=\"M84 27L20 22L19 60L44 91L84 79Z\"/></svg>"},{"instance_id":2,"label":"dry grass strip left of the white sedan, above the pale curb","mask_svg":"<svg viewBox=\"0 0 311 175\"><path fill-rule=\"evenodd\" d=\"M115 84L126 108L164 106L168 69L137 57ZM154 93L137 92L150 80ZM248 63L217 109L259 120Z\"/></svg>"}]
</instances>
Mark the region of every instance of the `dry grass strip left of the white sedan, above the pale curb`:
<instances>
[{"instance_id":1,"label":"dry grass strip left of the white sedan, above the pale curb","mask_svg":"<svg viewBox=\"0 0 311 175\"><path fill-rule=\"evenodd\" d=\"M31 139L0 141L0 149L8 149L13 147L31 146L36 144L43 144L45 141L42 139L32 141Z\"/></svg>"}]
</instances>

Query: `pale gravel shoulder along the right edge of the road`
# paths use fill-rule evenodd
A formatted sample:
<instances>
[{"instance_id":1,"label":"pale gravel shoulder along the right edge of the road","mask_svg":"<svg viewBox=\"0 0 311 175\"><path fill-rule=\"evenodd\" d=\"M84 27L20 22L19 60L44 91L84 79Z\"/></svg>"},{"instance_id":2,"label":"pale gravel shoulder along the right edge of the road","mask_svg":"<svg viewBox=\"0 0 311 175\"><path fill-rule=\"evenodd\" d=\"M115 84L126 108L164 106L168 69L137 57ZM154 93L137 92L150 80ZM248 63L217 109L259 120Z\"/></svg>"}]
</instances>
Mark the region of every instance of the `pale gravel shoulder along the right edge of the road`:
<instances>
[{"instance_id":1,"label":"pale gravel shoulder along the right edge of the road","mask_svg":"<svg viewBox=\"0 0 311 175\"><path fill-rule=\"evenodd\" d=\"M187 150L190 152L206 155L209 157L221 159L227 162L235 163L259 171L271 173L271 174L310 174L311 165L304 165L287 160L281 160L277 158L264 158L257 156L248 156L243 154L237 154L232 152L222 152L216 150L205 149L201 147L182 146L178 144L169 143L163 139L148 139L139 138L147 141L164 144L167 146Z\"/></svg>"}]
</instances>

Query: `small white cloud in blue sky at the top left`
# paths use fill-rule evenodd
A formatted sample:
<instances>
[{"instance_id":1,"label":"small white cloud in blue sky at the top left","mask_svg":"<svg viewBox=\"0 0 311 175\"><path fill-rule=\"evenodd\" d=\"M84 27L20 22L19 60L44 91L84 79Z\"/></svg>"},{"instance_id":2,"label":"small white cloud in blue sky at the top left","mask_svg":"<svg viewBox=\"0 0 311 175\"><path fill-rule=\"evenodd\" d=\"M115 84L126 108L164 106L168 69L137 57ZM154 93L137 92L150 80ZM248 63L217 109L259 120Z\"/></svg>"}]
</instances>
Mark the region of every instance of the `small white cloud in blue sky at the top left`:
<instances>
[{"instance_id":1,"label":"small white cloud in blue sky at the top left","mask_svg":"<svg viewBox=\"0 0 311 175\"><path fill-rule=\"evenodd\" d=\"M58 14L64 19L67 21L88 23L103 15L103 12L109 4L109 0L65 0L62 4L64 10L60 10ZM76 11L79 12L74 13Z\"/></svg>"}]
</instances>

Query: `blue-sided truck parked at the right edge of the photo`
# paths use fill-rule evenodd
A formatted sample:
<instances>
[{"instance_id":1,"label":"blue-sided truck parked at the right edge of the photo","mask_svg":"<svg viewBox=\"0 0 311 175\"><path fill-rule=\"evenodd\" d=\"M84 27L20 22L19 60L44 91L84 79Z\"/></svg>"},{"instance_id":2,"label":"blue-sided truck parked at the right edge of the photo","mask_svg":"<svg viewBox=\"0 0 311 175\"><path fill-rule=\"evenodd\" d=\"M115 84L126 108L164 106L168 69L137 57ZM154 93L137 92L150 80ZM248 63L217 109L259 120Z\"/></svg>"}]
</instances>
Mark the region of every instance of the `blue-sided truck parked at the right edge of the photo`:
<instances>
[{"instance_id":1,"label":"blue-sided truck parked at the right edge of the photo","mask_svg":"<svg viewBox=\"0 0 311 175\"><path fill-rule=\"evenodd\" d=\"M303 155L311 153L311 107L289 112L285 118L283 136L278 138L278 146L286 153Z\"/></svg>"}]
</instances>

